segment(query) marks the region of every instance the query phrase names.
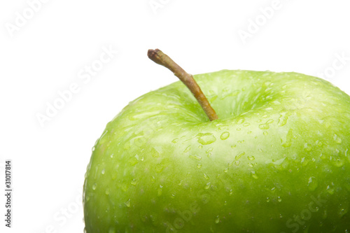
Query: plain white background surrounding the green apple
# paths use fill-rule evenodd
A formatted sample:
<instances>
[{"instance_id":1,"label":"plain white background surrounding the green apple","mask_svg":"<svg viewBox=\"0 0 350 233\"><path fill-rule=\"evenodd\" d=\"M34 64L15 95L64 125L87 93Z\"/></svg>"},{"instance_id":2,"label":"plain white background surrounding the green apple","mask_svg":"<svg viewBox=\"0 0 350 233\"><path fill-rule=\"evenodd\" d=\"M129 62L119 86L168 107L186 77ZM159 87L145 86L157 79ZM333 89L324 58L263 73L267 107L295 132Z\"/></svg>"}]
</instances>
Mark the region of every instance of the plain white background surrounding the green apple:
<instances>
[{"instance_id":1,"label":"plain white background surrounding the green apple","mask_svg":"<svg viewBox=\"0 0 350 233\"><path fill-rule=\"evenodd\" d=\"M83 232L81 191L94 142L129 101L176 81L148 59L148 48L193 74L296 71L349 94L349 1L272 6L274 0L1 1L0 231ZM250 37L242 39L243 31ZM104 49L118 54L87 80L86 67L98 67ZM41 124L37 115L72 83L78 92ZM6 159L13 160L10 230L3 220Z\"/></svg>"}]
</instances>

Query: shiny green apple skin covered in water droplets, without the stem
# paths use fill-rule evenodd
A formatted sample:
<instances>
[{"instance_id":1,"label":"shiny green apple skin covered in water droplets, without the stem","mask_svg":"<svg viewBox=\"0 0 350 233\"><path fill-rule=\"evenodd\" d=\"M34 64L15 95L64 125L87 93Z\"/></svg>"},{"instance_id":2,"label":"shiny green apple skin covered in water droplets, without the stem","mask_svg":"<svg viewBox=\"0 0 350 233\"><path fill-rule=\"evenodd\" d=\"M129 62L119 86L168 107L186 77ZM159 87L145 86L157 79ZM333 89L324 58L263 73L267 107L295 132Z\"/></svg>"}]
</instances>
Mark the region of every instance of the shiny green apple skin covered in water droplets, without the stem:
<instances>
[{"instance_id":1,"label":"shiny green apple skin covered in water droplets, without the stem","mask_svg":"<svg viewBox=\"0 0 350 233\"><path fill-rule=\"evenodd\" d=\"M350 97L300 73L194 77L130 102L97 140L87 233L350 231ZM347 230L347 231L346 231Z\"/></svg>"}]
</instances>

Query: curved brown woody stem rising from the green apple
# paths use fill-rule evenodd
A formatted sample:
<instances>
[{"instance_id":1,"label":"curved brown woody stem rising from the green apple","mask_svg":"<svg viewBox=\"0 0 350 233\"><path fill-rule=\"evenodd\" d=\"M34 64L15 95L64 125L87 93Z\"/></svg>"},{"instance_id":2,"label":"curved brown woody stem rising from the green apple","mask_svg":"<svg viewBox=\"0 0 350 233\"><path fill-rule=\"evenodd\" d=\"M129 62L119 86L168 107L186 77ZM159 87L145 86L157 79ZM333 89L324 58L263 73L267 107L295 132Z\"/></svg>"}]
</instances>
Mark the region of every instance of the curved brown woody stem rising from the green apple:
<instances>
[{"instance_id":1,"label":"curved brown woody stem rising from the green apple","mask_svg":"<svg viewBox=\"0 0 350 233\"><path fill-rule=\"evenodd\" d=\"M184 71L181 66L176 64L176 62L174 62L168 55L158 50L158 48L155 50L148 50L147 55L153 62L167 67L167 69L172 71L174 75L178 77L188 89L190 89L198 103L200 103L200 106L202 106L204 112L207 114L209 120L218 119L218 115L216 115L215 110L211 107L207 97L205 97L200 86L191 74Z\"/></svg>"}]
</instances>

